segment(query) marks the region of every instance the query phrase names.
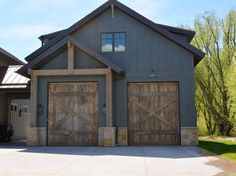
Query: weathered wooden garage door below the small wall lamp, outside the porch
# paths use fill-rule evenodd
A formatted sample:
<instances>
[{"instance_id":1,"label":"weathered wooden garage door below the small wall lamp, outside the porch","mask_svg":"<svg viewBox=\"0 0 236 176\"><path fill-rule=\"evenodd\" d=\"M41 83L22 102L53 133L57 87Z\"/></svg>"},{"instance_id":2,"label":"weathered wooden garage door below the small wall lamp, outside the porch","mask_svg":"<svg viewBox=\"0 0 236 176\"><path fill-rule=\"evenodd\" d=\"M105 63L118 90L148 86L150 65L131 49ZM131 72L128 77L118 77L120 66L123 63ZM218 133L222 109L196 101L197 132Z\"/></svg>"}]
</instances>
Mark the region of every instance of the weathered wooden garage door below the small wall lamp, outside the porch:
<instances>
[{"instance_id":1,"label":"weathered wooden garage door below the small wall lamp, outside the porch","mask_svg":"<svg viewBox=\"0 0 236 176\"><path fill-rule=\"evenodd\" d=\"M178 145L177 83L129 83L130 145Z\"/></svg>"}]
</instances>

